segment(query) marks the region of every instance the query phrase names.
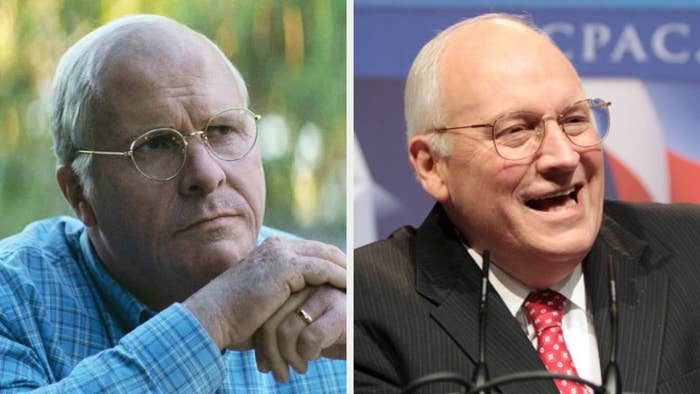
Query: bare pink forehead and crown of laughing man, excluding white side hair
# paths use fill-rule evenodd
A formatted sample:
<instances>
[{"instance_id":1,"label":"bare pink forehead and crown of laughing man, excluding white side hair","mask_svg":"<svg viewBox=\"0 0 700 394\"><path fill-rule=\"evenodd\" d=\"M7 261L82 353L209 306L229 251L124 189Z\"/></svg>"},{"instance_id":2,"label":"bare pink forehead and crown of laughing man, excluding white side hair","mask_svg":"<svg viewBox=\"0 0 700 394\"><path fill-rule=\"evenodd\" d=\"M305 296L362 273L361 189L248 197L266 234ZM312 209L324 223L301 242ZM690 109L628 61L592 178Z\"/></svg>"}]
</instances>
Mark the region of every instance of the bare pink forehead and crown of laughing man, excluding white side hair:
<instances>
[{"instance_id":1,"label":"bare pink forehead and crown of laughing man, excluding white side hair","mask_svg":"<svg viewBox=\"0 0 700 394\"><path fill-rule=\"evenodd\" d=\"M502 112L527 109L518 105L534 94L539 84L556 89L579 87L576 71L564 54L548 38L519 21L479 20L446 39L438 86L440 108L450 125L452 120L462 119L491 122L490 117ZM508 92L507 101L492 100L496 91Z\"/></svg>"}]
</instances>

